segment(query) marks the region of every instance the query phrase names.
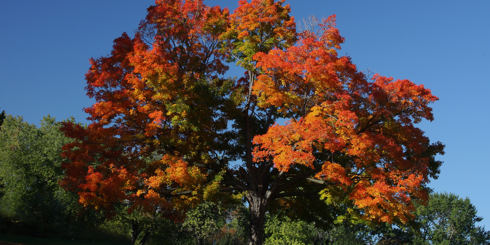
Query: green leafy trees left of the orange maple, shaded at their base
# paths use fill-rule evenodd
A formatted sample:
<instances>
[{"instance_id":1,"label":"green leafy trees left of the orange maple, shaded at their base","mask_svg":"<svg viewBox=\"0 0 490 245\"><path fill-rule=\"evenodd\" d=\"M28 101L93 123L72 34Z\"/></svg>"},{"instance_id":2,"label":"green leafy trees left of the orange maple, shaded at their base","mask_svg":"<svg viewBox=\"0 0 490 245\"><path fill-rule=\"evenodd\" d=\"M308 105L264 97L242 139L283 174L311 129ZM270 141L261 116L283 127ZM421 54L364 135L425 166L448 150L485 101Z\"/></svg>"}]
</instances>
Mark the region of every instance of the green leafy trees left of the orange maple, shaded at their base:
<instances>
[{"instance_id":1,"label":"green leafy trees left of the orange maple, shaded at their base","mask_svg":"<svg viewBox=\"0 0 490 245\"><path fill-rule=\"evenodd\" d=\"M73 119L71 120L74 123ZM72 142L49 115L38 128L7 115L0 129L0 215L2 233L80 238L100 219L81 210L78 196L58 185L61 147Z\"/></svg>"}]
</instances>

